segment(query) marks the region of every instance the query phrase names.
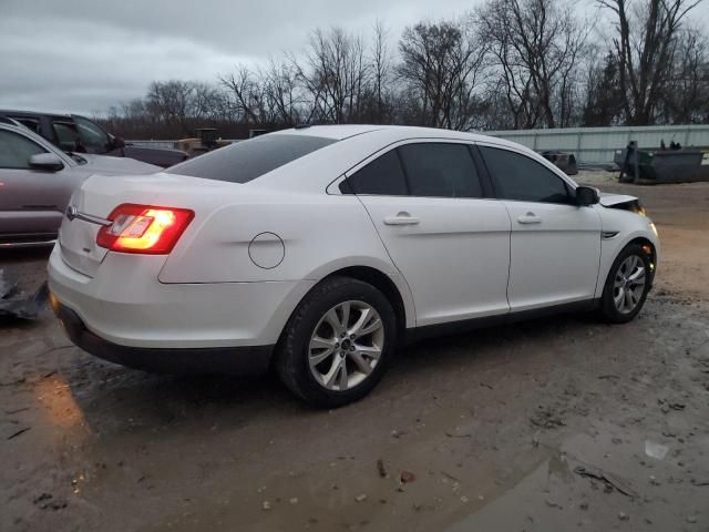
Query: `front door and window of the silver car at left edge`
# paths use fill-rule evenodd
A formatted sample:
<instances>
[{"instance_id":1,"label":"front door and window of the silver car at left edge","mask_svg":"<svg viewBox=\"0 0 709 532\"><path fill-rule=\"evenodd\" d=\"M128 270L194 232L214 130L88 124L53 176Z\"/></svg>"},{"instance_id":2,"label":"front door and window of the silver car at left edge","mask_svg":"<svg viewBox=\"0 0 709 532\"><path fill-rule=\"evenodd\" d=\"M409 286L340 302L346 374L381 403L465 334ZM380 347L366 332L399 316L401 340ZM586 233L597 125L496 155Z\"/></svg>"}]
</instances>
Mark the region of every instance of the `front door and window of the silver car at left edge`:
<instances>
[{"instance_id":1,"label":"front door and window of the silver car at left edge","mask_svg":"<svg viewBox=\"0 0 709 532\"><path fill-rule=\"evenodd\" d=\"M31 139L0 129L1 234L55 234L59 229L73 182L65 170L30 167L32 155L47 152Z\"/></svg>"}]
</instances>

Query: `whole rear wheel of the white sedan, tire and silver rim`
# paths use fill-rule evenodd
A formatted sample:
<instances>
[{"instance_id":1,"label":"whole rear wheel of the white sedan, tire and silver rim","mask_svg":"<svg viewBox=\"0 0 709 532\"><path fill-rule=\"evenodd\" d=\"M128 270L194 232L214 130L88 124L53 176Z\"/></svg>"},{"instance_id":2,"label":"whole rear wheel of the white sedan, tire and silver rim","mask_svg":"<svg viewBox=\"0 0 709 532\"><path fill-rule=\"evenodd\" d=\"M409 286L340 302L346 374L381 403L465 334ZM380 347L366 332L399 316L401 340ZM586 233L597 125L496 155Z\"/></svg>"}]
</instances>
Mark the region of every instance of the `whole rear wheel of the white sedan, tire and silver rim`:
<instances>
[{"instance_id":1,"label":"whole rear wheel of the white sedan, tire and silver rim","mask_svg":"<svg viewBox=\"0 0 709 532\"><path fill-rule=\"evenodd\" d=\"M397 319L368 283L331 277L300 303L279 342L276 369L298 397L336 408L369 393L395 348Z\"/></svg>"}]
</instances>

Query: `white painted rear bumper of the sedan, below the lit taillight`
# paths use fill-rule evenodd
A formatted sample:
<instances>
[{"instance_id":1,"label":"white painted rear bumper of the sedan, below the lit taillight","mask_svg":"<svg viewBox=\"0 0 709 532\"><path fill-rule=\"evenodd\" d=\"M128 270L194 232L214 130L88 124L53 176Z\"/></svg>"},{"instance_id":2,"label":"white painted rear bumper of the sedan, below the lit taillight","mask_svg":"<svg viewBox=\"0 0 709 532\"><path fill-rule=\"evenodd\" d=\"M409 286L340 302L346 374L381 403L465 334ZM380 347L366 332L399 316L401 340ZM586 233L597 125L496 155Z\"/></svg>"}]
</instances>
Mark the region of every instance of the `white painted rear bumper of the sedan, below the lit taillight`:
<instances>
[{"instance_id":1,"label":"white painted rear bumper of the sedan, below the lit taillight","mask_svg":"<svg viewBox=\"0 0 709 532\"><path fill-rule=\"evenodd\" d=\"M157 255L109 253L89 276L65 262L58 244L49 260L49 288L55 305L73 311L93 336L161 354L274 346L315 284L160 283L164 262Z\"/></svg>"}]
</instances>

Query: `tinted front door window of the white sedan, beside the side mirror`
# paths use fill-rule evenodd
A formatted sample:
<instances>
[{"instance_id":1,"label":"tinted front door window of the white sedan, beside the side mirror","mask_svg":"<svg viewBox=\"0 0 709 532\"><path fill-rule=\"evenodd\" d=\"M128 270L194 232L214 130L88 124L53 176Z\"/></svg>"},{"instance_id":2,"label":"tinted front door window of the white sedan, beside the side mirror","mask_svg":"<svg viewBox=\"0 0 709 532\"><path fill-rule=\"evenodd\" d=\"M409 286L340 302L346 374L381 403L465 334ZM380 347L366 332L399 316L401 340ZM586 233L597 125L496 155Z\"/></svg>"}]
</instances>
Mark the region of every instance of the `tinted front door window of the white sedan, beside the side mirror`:
<instances>
[{"instance_id":1,"label":"tinted front door window of the white sedan, beside the side mirror","mask_svg":"<svg viewBox=\"0 0 709 532\"><path fill-rule=\"evenodd\" d=\"M542 203L571 203L568 186L538 162L497 147L480 146L493 175L497 196L503 200Z\"/></svg>"}]
</instances>

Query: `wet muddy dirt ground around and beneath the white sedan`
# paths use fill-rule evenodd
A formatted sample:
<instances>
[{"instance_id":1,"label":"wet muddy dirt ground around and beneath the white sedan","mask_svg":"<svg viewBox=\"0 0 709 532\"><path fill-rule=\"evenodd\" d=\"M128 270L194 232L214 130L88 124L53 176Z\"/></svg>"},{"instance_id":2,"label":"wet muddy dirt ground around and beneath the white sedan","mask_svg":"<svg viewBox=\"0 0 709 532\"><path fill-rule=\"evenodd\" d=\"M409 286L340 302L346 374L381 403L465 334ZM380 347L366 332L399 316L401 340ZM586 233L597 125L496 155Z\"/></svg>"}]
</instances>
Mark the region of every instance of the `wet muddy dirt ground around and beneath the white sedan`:
<instances>
[{"instance_id":1,"label":"wet muddy dirt ground around and beneath the white sedan","mask_svg":"<svg viewBox=\"0 0 709 532\"><path fill-rule=\"evenodd\" d=\"M152 376L0 326L0 530L709 530L709 184L621 186L658 225L640 316L431 340L363 401ZM27 284L45 252L3 252Z\"/></svg>"}]
</instances>

